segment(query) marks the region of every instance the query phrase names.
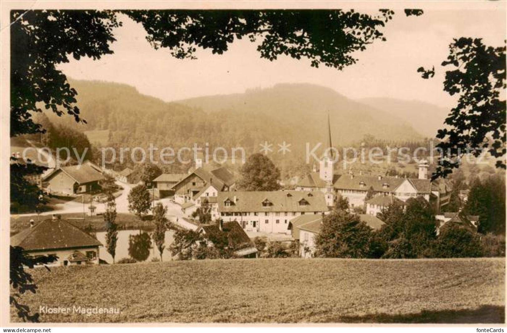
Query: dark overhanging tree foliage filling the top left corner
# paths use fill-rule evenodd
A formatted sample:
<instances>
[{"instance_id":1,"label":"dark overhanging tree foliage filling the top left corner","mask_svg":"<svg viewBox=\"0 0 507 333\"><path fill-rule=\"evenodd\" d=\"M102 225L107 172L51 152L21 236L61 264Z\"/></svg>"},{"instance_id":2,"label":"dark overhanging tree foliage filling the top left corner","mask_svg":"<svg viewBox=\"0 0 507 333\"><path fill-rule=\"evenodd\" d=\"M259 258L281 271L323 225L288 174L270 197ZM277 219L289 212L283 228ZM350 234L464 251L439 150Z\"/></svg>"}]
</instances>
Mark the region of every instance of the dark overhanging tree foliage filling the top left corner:
<instances>
[{"instance_id":1,"label":"dark overhanging tree foliage filling the top left corner","mask_svg":"<svg viewBox=\"0 0 507 333\"><path fill-rule=\"evenodd\" d=\"M56 68L69 57L100 59L111 54L113 29L121 25L112 11L11 12L11 136L43 128L32 113L44 109L80 118L78 92Z\"/></svg>"}]
</instances>

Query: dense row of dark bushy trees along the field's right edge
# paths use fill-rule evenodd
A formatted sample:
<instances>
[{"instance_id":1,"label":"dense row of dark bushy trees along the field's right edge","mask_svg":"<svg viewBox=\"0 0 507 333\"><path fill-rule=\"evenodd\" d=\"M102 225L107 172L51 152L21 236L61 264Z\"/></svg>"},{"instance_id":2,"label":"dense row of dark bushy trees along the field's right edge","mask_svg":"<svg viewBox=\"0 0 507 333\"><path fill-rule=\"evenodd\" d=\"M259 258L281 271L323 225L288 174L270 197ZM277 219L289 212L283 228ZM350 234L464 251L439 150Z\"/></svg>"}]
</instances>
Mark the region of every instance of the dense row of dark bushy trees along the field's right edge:
<instances>
[{"instance_id":1,"label":"dense row of dark bushy trees along the field's right edge","mask_svg":"<svg viewBox=\"0 0 507 333\"><path fill-rule=\"evenodd\" d=\"M409 199L402 206L391 205L379 218L385 225L372 230L358 215L336 209L324 217L315 238L315 256L345 258L429 258L504 255L502 236L483 235L473 228L438 224L429 203Z\"/></svg>"}]
</instances>

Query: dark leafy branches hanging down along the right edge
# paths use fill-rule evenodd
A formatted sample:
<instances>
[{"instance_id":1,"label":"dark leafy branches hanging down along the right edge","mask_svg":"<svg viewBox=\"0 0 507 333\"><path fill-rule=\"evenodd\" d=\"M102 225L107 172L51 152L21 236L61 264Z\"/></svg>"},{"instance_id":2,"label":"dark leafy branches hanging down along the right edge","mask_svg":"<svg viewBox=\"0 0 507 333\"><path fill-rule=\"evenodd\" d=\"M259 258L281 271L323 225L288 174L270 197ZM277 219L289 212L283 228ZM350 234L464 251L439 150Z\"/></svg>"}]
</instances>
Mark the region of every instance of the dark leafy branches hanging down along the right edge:
<instances>
[{"instance_id":1,"label":"dark leafy branches hanging down along the right edge","mask_svg":"<svg viewBox=\"0 0 507 333\"><path fill-rule=\"evenodd\" d=\"M446 72L444 91L459 98L445 120L449 127L438 131L442 142L437 147L443 155L432 179L452 173L468 153L478 157L486 151L505 169L505 46L487 46L478 38L454 39L442 66L453 67ZM434 67L419 69L424 79L434 76Z\"/></svg>"}]
</instances>

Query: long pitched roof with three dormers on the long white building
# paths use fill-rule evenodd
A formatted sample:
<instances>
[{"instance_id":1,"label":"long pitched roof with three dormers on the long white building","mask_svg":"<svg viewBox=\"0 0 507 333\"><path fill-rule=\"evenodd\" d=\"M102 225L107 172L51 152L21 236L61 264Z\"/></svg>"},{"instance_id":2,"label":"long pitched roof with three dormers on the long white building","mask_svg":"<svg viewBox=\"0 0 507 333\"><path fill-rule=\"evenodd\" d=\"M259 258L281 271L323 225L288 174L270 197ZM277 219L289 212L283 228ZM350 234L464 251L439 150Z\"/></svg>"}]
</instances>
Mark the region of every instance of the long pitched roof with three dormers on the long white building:
<instances>
[{"instance_id":1,"label":"long pitched roof with three dormers on the long white building","mask_svg":"<svg viewBox=\"0 0 507 333\"><path fill-rule=\"evenodd\" d=\"M287 193L292 196L287 196ZM218 203L221 212L324 212L328 211L324 194L320 191L312 192L313 197L308 196L309 191L238 191L219 192ZM308 205L299 205L301 196L305 196ZM236 197L236 202L234 200ZM224 202L229 199L231 206L225 206ZM263 206L262 203L269 200L272 205Z\"/></svg>"}]
</instances>

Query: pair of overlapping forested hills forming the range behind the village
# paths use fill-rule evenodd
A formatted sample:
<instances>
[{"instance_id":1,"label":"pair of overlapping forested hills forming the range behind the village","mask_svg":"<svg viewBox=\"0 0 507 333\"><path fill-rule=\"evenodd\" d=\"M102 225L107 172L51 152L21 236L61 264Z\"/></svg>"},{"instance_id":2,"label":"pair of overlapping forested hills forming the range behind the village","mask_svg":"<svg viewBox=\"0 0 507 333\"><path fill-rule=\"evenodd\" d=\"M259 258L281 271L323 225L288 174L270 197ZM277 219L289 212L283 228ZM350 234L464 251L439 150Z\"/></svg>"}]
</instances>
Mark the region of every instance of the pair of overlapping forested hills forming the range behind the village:
<instances>
[{"instance_id":1,"label":"pair of overlapping forested hills forming the range behind the village","mask_svg":"<svg viewBox=\"0 0 507 333\"><path fill-rule=\"evenodd\" d=\"M285 168L304 163L306 142L312 146L325 142L328 110L338 146L367 134L396 141L421 137L400 119L319 86L278 85L239 95L165 102L123 84L76 80L70 84L78 91L87 124L48 113L50 120L83 132L108 129L107 144L116 147L151 143L177 150L207 142L211 149L222 146L230 152L231 147L241 146L251 154L268 141L274 151L270 158ZM286 156L277 153L283 141L291 144L291 154Z\"/></svg>"}]
</instances>

